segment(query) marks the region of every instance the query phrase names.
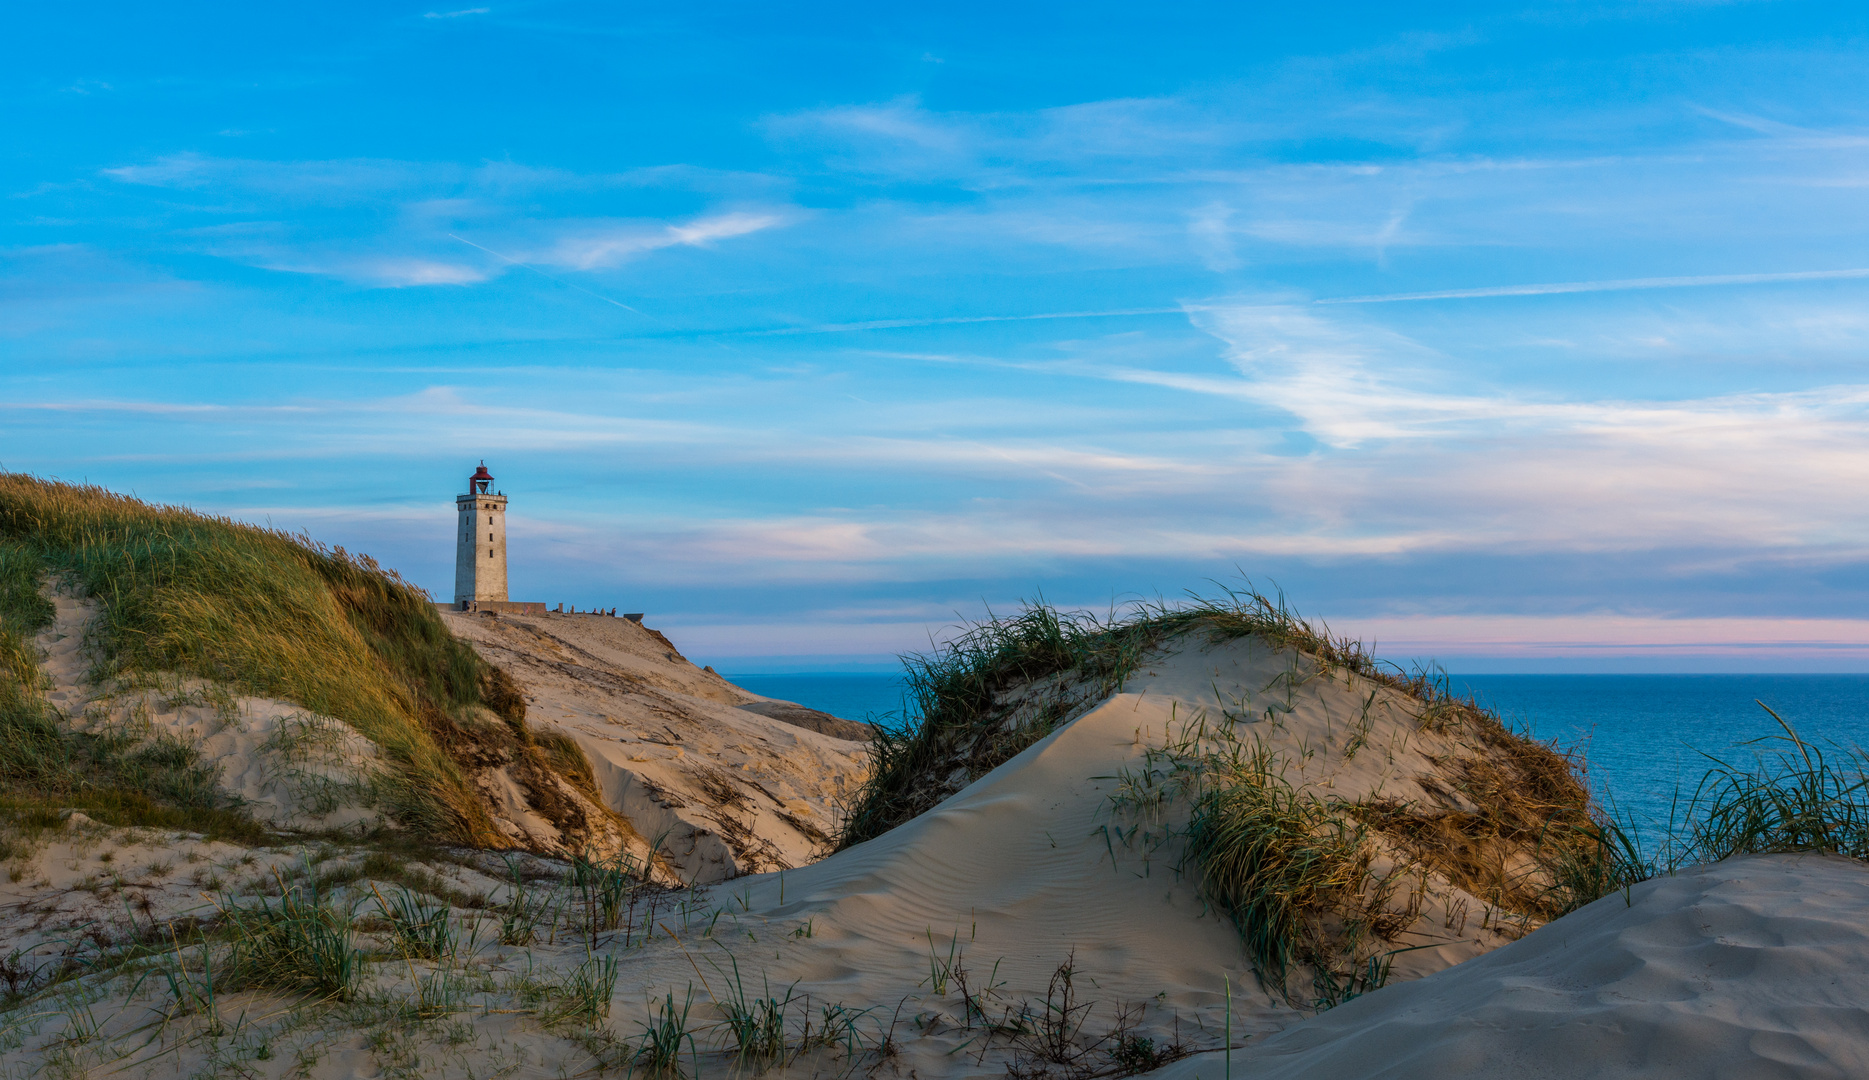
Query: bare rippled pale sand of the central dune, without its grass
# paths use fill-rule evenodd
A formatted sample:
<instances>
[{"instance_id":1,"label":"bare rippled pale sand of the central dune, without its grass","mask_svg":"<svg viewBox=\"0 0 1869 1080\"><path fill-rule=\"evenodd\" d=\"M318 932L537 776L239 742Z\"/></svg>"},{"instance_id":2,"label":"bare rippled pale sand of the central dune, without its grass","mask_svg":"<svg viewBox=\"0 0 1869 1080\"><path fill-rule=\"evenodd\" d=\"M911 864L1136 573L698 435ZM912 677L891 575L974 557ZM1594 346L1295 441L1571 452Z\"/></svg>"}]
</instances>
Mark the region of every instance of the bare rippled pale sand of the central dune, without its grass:
<instances>
[{"instance_id":1,"label":"bare rippled pale sand of the central dune, without its grass","mask_svg":"<svg viewBox=\"0 0 1869 1080\"><path fill-rule=\"evenodd\" d=\"M1297 688L1288 695L1284 675L1293 663ZM1179 1024L1191 1044L1219 1044L1228 981L1235 1033L1301 1020L1303 1011L1260 987L1239 934L1176 873L1174 850L1112 839L1112 826L1127 822L1112 796L1123 787L1120 774L1142 768L1149 747L1200 718L1245 706L1256 718L1243 727L1284 755L1305 785L1420 798L1417 777L1432 777L1430 759L1454 755L1456 740L1420 732L1419 703L1394 691L1377 693L1364 729L1368 688L1342 676L1306 678L1306 663L1252 639L1211 648L1183 641L1123 693L934 811L789 871L783 882L763 874L721 886L736 927L811 925L809 949L785 947L770 960L748 951L742 964L776 985L798 981L820 1000L901 1005L903 1015L920 1016L903 1054L921 1074L1004 1073L1017 1056L1002 1044L977 1069L955 1065L951 1054L979 1046L981 1037L968 1030L957 988L933 992L931 955L936 966L963 957L976 985L991 983L992 1013L1041 1002L1056 968L1075 957L1084 1002L1097 1002L1091 1028L1112 1026L1118 1009L1131 1007L1136 1030L1155 1039L1174 1039ZM1363 751L1344 760L1359 732ZM1396 932L1396 947L1428 947L1398 957L1396 979L1458 964L1523 932L1478 897L1432 878L1417 912ZM742 953L735 938L721 938L721 947ZM649 987L671 979L677 992L693 981L680 957L658 962L654 955L654 947L643 953L637 979Z\"/></svg>"}]
</instances>

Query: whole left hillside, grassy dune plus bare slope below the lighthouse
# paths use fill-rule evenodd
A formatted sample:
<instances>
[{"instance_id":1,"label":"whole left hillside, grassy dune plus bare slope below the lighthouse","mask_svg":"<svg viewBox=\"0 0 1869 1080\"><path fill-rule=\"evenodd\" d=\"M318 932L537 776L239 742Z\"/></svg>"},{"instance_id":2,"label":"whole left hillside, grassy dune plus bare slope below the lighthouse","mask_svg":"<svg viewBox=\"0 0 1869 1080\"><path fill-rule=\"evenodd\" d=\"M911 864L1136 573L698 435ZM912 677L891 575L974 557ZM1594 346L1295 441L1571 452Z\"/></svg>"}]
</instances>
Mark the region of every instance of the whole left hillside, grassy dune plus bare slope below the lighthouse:
<instances>
[{"instance_id":1,"label":"whole left hillside, grassy dune plus bare slope below the lighthouse","mask_svg":"<svg viewBox=\"0 0 1869 1080\"><path fill-rule=\"evenodd\" d=\"M19 475L0 475L0 661L15 800L619 856L665 882L828 850L869 734L628 620L443 615L305 536Z\"/></svg>"}]
</instances>

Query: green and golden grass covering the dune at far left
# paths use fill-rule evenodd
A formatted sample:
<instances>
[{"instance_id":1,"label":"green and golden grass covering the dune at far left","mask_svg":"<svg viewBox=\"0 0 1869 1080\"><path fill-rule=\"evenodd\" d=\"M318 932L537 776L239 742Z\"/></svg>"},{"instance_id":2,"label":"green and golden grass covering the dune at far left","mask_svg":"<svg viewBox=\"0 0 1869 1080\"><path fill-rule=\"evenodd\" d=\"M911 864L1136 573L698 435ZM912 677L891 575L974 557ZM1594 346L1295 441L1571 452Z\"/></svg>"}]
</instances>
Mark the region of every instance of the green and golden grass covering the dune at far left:
<instances>
[{"instance_id":1,"label":"green and golden grass covering the dune at far left","mask_svg":"<svg viewBox=\"0 0 1869 1080\"><path fill-rule=\"evenodd\" d=\"M505 846L462 764L514 744L525 762L548 760L510 678L454 639L422 590L372 559L26 475L0 475L0 701L9 725L49 723L30 648L52 618L39 594L47 579L101 605L95 682L172 671L340 718L383 749L394 774L387 809L422 835ZM110 787L108 777L62 783L54 772L13 779Z\"/></svg>"}]
</instances>

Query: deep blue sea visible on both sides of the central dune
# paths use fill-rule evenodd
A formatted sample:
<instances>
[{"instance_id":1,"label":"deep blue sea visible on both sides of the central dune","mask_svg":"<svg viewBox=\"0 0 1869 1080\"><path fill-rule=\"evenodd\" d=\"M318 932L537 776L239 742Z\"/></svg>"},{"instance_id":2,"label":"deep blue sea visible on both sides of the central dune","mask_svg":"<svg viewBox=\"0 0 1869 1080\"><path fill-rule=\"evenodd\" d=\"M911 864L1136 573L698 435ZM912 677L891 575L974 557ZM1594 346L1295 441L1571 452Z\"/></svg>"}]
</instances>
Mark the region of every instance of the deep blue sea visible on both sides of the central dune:
<instances>
[{"instance_id":1,"label":"deep blue sea visible on both sides of the central dune","mask_svg":"<svg viewBox=\"0 0 1869 1080\"><path fill-rule=\"evenodd\" d=\"M899 675L729 678L847 719L897 727L905 714ZM1448 689L1576 751L1598 800L1648 835L1718 762L1794 749L1774 712L1826 753L1869 744L1869 675L1448 675Z\"/></svg>"}]
</instances>

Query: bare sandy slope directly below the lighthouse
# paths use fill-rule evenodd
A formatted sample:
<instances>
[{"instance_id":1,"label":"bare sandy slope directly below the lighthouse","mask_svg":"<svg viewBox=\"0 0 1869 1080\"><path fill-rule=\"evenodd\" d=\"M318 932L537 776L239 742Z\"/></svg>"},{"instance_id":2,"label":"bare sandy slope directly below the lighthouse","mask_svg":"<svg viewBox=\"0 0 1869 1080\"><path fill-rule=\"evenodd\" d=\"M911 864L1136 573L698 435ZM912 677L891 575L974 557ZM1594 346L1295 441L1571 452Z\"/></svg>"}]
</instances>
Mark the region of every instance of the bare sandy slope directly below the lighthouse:
<instances>
[{"instance_id":1,"label":"bare sandy slope directly below the lighthouse","mask_svg":"<svg viewBox=\"0 0 1869 1080\"><path fill-rule=\"evenodd\" d=\"M533 725L578 740L611 809L684 880L809 863L862 779L867 729L740 689L639 622L443 618L525 689Z\"/></svg>"}]
</instances>

